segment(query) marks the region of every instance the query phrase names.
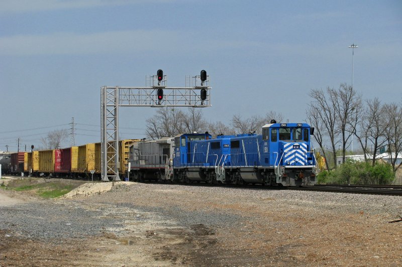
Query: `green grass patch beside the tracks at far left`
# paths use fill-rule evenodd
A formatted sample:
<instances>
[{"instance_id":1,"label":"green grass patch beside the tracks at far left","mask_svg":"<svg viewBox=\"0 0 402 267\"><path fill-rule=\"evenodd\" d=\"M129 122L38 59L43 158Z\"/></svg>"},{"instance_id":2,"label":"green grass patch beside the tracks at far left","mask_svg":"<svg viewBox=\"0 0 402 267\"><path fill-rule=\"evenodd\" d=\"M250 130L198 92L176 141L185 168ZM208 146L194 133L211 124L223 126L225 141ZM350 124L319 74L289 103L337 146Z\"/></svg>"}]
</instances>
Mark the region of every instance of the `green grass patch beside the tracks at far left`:
<instances>
[{"instance_id":1,"label":"green grass patch beside the tracks at far left","mask_svg":"<svg viewBox=\"0 0 402 267\"><path fill-rule=\"evenodd\" d=\"M26 191L43 198L55 198L62 196L85 181L52 179L45 181L43 178L16 179L10 181L7 188L15 191Z\"/></svg>"}]
</instances>

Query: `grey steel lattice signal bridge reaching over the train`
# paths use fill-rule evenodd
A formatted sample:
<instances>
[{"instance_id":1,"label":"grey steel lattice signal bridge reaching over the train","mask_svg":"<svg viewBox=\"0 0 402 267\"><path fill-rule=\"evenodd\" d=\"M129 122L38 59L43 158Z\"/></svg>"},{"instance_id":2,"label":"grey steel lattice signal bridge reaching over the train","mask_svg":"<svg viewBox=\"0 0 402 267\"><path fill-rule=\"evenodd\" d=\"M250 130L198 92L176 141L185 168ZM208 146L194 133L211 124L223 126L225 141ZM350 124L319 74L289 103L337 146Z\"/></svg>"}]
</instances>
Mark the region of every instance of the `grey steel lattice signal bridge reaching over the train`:
<instances>
[{"instance_id":1,"label":"grey steel lattice signal bridge reaching over the train","mask_svg":"<svg viewBox=\"0 0 402 267\"><path fill-rule=\"evenodd\" d=\"M186 87L167 87L166 81L166 75L163 76L162 81L158 81L157 75L154 75L146 77L148 87L103 86L101 88L101 176L103 181L120 181L119 106L197 108L211 106L212 88L208 86L209 76L206 81L201 81L200 76L192 77L192 80L188 76L186 77ZM158 99L158 89L163 90L161 100ZM201 99L201 90L207 90L205 100Z\"/></svg>"}]
</instances>

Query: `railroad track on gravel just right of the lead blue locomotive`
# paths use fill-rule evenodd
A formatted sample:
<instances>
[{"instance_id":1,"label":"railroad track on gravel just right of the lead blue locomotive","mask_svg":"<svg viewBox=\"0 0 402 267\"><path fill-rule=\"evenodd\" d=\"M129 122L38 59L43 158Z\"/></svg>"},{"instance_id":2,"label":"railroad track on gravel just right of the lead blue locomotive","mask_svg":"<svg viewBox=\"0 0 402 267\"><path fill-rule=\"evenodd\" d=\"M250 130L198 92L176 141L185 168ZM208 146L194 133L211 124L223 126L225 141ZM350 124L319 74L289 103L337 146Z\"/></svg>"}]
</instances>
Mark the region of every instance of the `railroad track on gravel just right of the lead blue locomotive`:
<instances>
[{"instance_id":1,"label":"railroad track on gravel just right of the lead blue locomotive","mask_svg":"<svg viewBox=\"0 0 402 267\"><path fill-rule=\"evenodd\" d=\"M287 190L402 196L402 186L400 185L318 184L314 186L287 187Z\"/></svg>"}]
</instances>

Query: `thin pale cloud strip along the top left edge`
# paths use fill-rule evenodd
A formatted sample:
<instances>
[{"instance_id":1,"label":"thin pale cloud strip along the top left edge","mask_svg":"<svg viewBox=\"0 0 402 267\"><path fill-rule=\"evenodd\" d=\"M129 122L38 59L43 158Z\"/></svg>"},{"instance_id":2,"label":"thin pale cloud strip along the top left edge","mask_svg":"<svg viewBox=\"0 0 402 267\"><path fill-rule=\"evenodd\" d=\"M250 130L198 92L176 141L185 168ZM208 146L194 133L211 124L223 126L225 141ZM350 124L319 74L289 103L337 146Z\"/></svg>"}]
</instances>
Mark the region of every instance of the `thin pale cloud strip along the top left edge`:
<instances>
[{"instance_id":1,"label":"thin pale cloud strip along the top left edge","mask_svg":"<svg viewBox=\"0 0 402 267\"><path fill-rule=\"evenodd\" d=\"M175 0L1 0L0 14L125 6L150 2L164 3L175 2Z\"/></svg>"}]
</instances>

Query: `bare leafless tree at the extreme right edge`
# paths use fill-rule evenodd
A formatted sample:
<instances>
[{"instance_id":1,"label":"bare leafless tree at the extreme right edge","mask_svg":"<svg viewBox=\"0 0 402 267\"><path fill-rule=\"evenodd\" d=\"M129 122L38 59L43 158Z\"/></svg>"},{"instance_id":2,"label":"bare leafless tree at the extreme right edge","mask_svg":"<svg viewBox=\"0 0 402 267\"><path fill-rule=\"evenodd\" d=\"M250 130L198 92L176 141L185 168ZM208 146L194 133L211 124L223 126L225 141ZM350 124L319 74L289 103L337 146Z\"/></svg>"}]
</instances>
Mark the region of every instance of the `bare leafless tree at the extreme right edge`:
<instances>
[{"instance_id":1,"label":"bare leafless tree at the extreme right edge","mask_svg":"<svg viewBox=\"0 0 402 267\"><path fill-rule=\"evenodd\" d=\"M385 131L385 138L387 139L391 165L393 171L402 165L402 161L396 163L398 155L402 154L402 107L395 103L386 104L384 106L385 118L389 122ZM392 150L395 152L392 155Z\"/></svg>"}]
</instances>

